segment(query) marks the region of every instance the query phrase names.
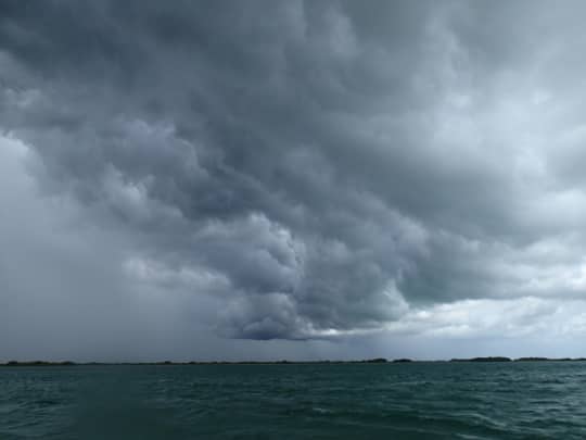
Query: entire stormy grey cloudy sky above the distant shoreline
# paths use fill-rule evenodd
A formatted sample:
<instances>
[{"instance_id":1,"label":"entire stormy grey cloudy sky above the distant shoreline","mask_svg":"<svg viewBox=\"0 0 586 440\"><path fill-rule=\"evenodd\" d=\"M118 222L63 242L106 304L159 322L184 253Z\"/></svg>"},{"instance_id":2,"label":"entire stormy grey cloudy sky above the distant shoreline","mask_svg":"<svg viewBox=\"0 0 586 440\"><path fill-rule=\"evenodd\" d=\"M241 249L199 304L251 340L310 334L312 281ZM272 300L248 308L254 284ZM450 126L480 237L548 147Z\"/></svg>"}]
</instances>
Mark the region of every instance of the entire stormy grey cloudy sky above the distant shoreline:
<instances>
[{"instance_id":1,"label":"entire stormy grey cloudy sky above the distant shoreline","mask_svg":"<svg viewBox=\"0 0 586 440\"><path fill-rule=\"evenodd\" d=\"M0 361L584 356L586 4L0 3Z\"/></svg>"}]
</instances>

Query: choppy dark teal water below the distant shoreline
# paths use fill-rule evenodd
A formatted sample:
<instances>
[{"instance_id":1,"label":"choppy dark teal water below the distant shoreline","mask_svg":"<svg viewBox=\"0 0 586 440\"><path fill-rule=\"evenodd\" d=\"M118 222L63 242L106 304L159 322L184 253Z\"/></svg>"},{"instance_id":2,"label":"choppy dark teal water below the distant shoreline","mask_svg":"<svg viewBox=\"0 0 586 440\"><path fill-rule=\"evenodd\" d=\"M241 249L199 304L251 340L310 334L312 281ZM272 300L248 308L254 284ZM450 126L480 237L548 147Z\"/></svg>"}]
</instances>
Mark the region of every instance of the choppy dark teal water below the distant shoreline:
<instances>
[{"instance_id":1,"label":"choppy dark teal water below the distant shoreline","mask_svg":"<svg viewBox=\"0 0 586 440\"><path fill-rule=\"evenodd\" d=\"M586 363L0 368L0 439L584 439Z\"/></svg>"}]
</instances>

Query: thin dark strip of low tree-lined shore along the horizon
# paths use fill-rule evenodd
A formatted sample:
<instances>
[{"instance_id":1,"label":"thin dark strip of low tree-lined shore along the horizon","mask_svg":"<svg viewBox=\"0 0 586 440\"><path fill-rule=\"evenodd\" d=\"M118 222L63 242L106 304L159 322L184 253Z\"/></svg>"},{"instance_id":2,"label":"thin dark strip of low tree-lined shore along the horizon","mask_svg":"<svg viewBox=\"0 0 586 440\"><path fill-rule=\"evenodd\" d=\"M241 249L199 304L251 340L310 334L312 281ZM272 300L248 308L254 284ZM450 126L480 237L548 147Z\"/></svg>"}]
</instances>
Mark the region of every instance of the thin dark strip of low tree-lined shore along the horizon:
<instances>
[{"instance_id":1,"label":"thin dark strip of low tree-lined shore along the horizon","mask_svg":"<svg viewBox=\"0 0 586 440\"><path fill-rule=\"evenodd\" d=\"M0 367L26 367L26 366L114 366L114 365L330 365L330 364L397 364L397 363L494 363L494 362L586 362L586 357L506 357L485 356L450 360L411 360L375 357L355 361L188 361L188 362L73 362L73 361L9 361L0 363Z\"/></svg>"}]
</instances>

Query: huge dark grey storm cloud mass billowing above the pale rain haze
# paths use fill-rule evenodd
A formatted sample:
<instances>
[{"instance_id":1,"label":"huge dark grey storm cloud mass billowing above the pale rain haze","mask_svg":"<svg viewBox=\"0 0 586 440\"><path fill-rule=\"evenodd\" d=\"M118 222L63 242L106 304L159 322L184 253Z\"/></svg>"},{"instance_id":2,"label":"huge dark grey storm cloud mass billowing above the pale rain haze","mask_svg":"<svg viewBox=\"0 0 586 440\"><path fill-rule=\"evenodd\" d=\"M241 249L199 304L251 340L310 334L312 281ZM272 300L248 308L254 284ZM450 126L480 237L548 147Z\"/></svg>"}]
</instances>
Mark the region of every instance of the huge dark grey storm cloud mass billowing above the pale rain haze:
<instances>
[{"instance_id":1,"label":"huge dark grey storm cloud mass billowing above the pale rain haze","mask_svg":"<svg viewBox=\"0 0 586 440\"><path fill-rule=\"evenodd\" d=\"M1 126L47 197L124 237L118 290L186 292L220 336L574 301L582 9L4 1Z\"/></svg>"}]
</instances>

